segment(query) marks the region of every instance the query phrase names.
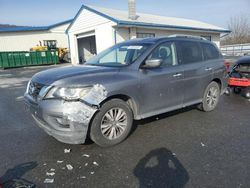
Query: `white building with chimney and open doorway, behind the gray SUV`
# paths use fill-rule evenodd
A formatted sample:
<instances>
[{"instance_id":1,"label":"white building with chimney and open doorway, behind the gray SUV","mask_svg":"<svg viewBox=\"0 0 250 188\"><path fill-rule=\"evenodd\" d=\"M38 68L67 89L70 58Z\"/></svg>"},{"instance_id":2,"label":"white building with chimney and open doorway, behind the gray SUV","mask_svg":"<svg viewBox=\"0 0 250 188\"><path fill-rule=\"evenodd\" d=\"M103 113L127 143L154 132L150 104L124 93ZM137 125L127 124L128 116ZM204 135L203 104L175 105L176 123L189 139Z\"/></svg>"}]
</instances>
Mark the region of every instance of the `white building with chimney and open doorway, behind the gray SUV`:
<instances>
[{"instance_id":1,"label":"white building with chimney and open doorway, behind the gray SUV","mask_svg":"<svg viewBox=\"0 0 250 188\"><path fill-rule=\"evenodd\" d=\"M73 64L133 38L187 34L205 37L219 46L220 34L228 32L200 21L136 13L134 0L129 0L128 12L83 5L67 29Z\"/></svg>"}]
</instances>

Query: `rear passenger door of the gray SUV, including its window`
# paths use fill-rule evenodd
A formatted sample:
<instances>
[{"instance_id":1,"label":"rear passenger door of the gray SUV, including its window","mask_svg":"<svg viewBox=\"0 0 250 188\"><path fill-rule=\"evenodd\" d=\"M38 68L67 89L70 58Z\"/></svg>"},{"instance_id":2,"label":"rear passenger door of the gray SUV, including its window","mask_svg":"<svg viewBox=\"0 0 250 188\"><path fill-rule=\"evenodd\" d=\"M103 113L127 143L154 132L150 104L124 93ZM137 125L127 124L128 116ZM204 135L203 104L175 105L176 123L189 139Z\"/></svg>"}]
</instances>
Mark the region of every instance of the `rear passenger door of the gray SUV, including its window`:
<instances>
[{"instance_id":1,"label":"rear passenger door of the gray SUV, including its window","mask_svg":"<svg viewBox=\"0 0 250 188\"><path fill-rule=\"evenodd\" d=\"M204 91L213 77L213 68L204 61L199 42L180 40L177 42L180 64L184 71L184 106L200 102Z\"/></svg>"}]
</instances>

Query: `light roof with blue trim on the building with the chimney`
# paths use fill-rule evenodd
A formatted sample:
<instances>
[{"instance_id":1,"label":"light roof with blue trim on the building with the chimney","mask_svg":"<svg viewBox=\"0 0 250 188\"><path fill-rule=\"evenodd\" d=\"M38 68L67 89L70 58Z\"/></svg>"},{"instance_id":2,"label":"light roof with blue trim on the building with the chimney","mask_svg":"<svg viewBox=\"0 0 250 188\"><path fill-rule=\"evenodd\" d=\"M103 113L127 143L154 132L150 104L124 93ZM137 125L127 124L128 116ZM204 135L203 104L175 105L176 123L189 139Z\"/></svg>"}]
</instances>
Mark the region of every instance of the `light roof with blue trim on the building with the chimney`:
<instances>
[{"instance_id":1,"label":"light roof with blue trim on the building with the chimney","mask_svg":"<svg viewBox=\"0 0 250 188\"><path fill-rule=\"evenodd\" d=\"M169 29L180 29L180 30L198 30L198 31L210 31L219 33L229 33L230 31L215 25L211 25L205 22L200 22L191 19L175 18L159 16L154 14L136 13L138 16L136 20L128 18L128 12L122 10L114 10L95 6L83 5L78 11L71 25L77 19L78 15L83 9L87 9L100 16L103 16L111 21L117 23L118 26L135 26L135 27L153 27L153 28L169 28ZM67 29L70 29L71 25Z\"/></svg>"}]
</instances>

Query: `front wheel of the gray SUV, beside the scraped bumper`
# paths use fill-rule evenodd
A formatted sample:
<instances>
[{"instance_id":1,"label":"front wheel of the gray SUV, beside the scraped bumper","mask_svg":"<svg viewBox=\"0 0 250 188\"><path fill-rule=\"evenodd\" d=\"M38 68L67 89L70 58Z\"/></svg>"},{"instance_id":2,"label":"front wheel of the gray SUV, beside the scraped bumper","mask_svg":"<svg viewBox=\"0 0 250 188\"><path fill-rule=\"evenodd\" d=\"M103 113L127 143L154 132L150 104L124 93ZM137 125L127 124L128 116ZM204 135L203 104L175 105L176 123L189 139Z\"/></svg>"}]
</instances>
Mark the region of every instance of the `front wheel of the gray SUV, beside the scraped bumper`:
<instances>
[{"instance_id":1,"label":"front wheel of the gray SUV, beside the scraped bumper","mask_svg":"<svg viewBox=\"0 0 250 188\"><path fill-rule=\"evenodd\" d=\"M101 147L113 146L127 138L132 124L133 113L128 104L112 99L102 105L92 120L90 138Z\"/></svg>"}]
</instances>

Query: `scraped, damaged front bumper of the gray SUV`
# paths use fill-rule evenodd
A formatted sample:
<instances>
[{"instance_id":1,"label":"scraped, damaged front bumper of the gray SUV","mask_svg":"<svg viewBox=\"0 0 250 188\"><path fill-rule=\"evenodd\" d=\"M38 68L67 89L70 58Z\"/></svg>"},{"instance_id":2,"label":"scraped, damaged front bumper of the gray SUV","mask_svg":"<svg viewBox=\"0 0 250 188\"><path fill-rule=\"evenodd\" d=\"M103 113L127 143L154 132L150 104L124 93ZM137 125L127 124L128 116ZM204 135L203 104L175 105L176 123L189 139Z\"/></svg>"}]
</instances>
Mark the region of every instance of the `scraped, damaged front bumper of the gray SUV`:
<instances>
[{"instance_id":1,"label":"scraped, damaged front bumper of the gray SUV","mask_svg":"<svg viewBox=\"0 0 250 188\"><path fill-rule=\"evenodd\" d=\"M35 101L29 94L24 98L37 125L49 135L69 144L85 142L89 123L97 108L80 101Z\"/></svg>"}]
</instances>

